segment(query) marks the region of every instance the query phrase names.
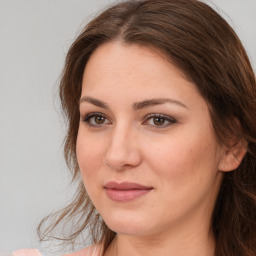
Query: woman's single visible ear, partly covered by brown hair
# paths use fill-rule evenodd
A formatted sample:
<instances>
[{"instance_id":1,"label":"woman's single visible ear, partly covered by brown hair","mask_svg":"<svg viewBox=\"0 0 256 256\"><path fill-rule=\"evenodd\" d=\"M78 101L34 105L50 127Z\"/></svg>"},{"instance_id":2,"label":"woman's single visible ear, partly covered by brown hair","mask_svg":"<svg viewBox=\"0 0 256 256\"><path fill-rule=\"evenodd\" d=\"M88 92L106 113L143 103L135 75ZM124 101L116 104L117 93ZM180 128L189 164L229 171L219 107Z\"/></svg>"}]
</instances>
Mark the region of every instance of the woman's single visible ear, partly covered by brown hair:
<instances>
[{"instance_id":1,"label":"woman's single visible ear, partly covered by brown hair","mask_svg":"<svg viewBox=\"0 0 256 256\"><path fill-rule=\"evenodd\" d=\"M248 143L245 139L240 139L231 146L223 149L219 170L222 172L233 171L241 164L246 152Z\"/></svg>"}]
</instances>

